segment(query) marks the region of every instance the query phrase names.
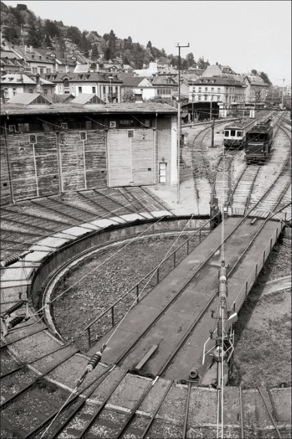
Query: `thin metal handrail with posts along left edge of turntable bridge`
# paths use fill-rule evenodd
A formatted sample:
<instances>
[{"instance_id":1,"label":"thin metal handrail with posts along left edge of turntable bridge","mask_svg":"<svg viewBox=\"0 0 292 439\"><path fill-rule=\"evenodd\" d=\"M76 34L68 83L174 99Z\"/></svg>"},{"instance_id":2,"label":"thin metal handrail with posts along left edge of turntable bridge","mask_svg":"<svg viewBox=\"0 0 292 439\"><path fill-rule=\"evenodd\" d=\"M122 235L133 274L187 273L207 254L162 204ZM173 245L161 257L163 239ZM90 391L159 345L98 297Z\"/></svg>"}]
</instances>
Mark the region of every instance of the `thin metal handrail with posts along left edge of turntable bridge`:
<instances>
[{"instance_id":1,"label":"thin metal handrail with posts along left edge of turntable bridge","mask_svg":"<svg viewBox=\"0 0 292 439\"><path fill-rule=\"evenodd\" d=\"M215 215L216 216L216 215ZM200 227L198 230L195 231L195 233L193 233L193 235L191 235L190 237L188 237L188 239L186 239L186 241L184 241L178 248L176 248L171 254L169 254L169 256L162 261L162 263L165 263L166 261L168 261L171 257L173 257L173 268L171 270L173 270L177 263L176 263L176 252L178 252L178 250L180 250L180 248L182 248L182 246L184 246L186 244L186 256L188 256L189 253L189 241L197 234L199 234L199 242L201 242L201 237L202 237L202 229L206 226L208 226L208 224L210 224L210 222L212 222L212 220L215 217L212 217L211 219L209 219L208 222L206 222L206 224L204 224L202 227ZM184 259L184 258L183 258ZM92 322L88 323L88 325L84 328L84 331L88 331L88 344L89 347L91 347L91 335L90 335L90 328L93 326L93 324L95 324L98 320L100 320L102 317L104 317L107 313L109 313L111 311L111 317L112 317L112 327L114 327L114 307L116 305L118 305L119 302L121 302L121 300L123 300L126 296L128 296L131 292L134 291L134 289L136 289L136 304L139 301L139 287L141 285L141 283L143 283L143 281L145 281L145 279L147 277L149 277L151 274L153 274L154 272L157 271L157 283L156 285L158 285L158 283L160 281L162 281L162 278L160 278L159 276L159 269L160 266L162 265L162 263L160 263L160 265L156 266L153 270L151 270L150 272L148 272L140 281L138 281L138 283L136 283L131 289L129 289L127 292L125 292L123 294L123 296L121 296L119 299L117 299L112 305L110 305L110 307L108 307L105 311L103 311L101 314L99 314L99 316L97 316ZM170 271L171 271L170 270ZM165 276L164 276L165 277Z\"/></svg>"}]
</instances>

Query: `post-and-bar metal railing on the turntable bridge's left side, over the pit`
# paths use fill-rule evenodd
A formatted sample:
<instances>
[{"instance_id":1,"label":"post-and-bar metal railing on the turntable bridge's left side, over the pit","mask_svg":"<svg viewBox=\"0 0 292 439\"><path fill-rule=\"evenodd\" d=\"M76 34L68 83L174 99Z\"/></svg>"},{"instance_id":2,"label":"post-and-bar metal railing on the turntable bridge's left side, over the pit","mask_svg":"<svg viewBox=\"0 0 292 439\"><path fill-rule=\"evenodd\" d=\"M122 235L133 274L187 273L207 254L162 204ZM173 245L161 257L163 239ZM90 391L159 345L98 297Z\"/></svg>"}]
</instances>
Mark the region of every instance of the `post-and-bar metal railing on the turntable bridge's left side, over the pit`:
<instances>
[{"instance_id":1,"label":"post-and-bar metal railing on the turntable bridge's left side, over the pit","mask_svg":"<svg viewBox=\"0 0 292 439\"><path fill-rule=\"evenodd\" d=\"M105 311L103 311L101 314L99 314L99 316L97 316L96 318L94 318L94 320L92 322L90 322L85 328L84 331L88 332L88 346L89 348L91 348L92 346L92 340L91 340L91 327L93 326L93 324L99 322L99 320L101 320L101 318L105 317L106 314L110 313L110 318L111 318L111 327L114 327L114 324L116 324L119 320L115 319L115 307L117 307L117 305L119 305L119 303L124 300L125 298L131 296L131 293L134 293L136 295L136 305L139 302L139 296L141 294L141 284L143 282L145 282L147 280L147 278L149 278L149 280L151 280L151 276L154 275L154 273L156 272L156 284L153 286L155 287L156 285L158 285L158 283L160 283L160 281L162 281L163 278L165 278L165 276L167 276L167 274L169 274L172 270L174 270L174 268L176 267L176 265L178 265L178 263L180 261L182 261L182 259L184 259L185 257L188 256L189 252L190 252L190 241L193 237L195 237L195 235L199 235L199 243L202 240L202 230L208 226L208 224L210 224L212 222L212 219L209 219L208 222L206 222L206 224L204 224L204 226L200 227L198 230L195 231L195 233L193 233L193 235L191 235L190 237L188 237L188 239L186 239L186 241L184 241L178 248L176 248L171 254L169 254L169 256L162 261L162 263L158 266L158 268L154 268L153 270L151 270L150 272L148 272L140 281L138 281L138 283L136 283L134 285L134 287L132 287L131 289L129 289L127 292L125 292L123 294L123 296L121 296L118 300L116 300L112 305L110 305L110 307L108 307ZM206 236L206 234L204 234L203 236ZM182 249L184 246L186 246L186 255L184 257L182 257L182 259L180 259L180 261L178 262L178 251L180 249ZM164 274L164 276L161 276L161 268L162 265L165 265L165 263L167 263L167 261L169 261L171 258L173 258L173 267ZM152 288L153 288L152 287ZM149 289L150 291L151 289ZM148 291L148 292L149 292ZM148 293L145 292L145 295ZM144 297L143 296L143 297Z\"/></svg>"}]
</instances>

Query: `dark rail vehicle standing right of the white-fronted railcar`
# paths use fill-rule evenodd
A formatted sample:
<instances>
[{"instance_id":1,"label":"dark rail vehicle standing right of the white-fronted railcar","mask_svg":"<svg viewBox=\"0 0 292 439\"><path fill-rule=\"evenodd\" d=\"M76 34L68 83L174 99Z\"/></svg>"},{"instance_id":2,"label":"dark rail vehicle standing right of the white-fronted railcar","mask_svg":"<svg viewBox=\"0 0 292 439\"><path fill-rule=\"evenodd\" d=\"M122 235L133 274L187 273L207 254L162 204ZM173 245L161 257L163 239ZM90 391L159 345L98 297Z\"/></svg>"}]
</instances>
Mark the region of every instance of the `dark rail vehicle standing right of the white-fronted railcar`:
<instances>
[{"instance_id":1,"label":"dark rail vehicle standing right of the white-fronted railcar","mask_svg":"<svg viewBox=\"0 0 292 439\"><path fill-rule=\"evenodd\" d=\"M273 142L273 127L271 119L257 123L247 133L245 145L245 160L247 163L263 163L271 151Z\"/></svg>"}]
</instances>

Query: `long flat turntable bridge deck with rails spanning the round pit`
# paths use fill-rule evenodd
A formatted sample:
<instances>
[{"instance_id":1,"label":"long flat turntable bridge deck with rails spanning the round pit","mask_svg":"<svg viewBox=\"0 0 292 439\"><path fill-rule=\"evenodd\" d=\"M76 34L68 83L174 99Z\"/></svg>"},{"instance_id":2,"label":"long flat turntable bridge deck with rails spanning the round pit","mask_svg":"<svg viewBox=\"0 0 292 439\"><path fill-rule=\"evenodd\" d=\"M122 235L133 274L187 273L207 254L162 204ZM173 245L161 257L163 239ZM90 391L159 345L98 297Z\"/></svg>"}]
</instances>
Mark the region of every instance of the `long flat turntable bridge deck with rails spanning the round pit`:
<instances>
[{"instance_id":1,"label":"long flat turntable bridge deck with rails spanning the round pit","mask_svg":"<svg viewBox=\"0 0 292 439\"><path fill-rule=\"evenodd\" d=\"M210 355L204 359L204 344L219 300L221 239L229 317L239 313L281 230L280 222L263 218L225 219L88 353L106 345L102 361L108 364L141 375L194 377L199 384L216 385L216 361ZM228 368L224 374L227 381Z\"/></svg>"}]
</instances>

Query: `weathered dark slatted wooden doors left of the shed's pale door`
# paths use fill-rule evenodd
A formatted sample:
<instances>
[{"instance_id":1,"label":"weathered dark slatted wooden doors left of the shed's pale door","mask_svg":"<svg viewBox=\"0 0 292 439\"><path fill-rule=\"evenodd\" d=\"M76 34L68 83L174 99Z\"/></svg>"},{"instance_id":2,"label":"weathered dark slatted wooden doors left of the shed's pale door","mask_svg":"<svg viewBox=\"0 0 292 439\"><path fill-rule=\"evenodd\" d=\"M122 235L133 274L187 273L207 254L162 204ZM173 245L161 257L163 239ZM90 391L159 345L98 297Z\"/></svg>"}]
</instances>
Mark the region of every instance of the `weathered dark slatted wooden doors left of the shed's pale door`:
<instances>
[{"instance_id":1,"label":"weathered dark slatted wooden doors left of the shed's pale door","mask_svg":"<svg viewBox=\"0 0 292 439\"><path fill-rule=\"evenodd\" d=\"M7 146L14 200L106 187L106 132L80 131L8 134ZM2 182L3 180L3 182ZM3 185L3 183L8 183ZM1 137L1 204L12 202L5 138Z\"/></svg>"}]
</instances>

